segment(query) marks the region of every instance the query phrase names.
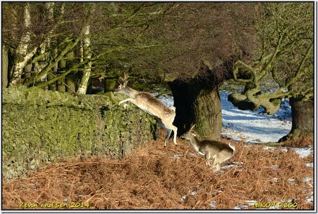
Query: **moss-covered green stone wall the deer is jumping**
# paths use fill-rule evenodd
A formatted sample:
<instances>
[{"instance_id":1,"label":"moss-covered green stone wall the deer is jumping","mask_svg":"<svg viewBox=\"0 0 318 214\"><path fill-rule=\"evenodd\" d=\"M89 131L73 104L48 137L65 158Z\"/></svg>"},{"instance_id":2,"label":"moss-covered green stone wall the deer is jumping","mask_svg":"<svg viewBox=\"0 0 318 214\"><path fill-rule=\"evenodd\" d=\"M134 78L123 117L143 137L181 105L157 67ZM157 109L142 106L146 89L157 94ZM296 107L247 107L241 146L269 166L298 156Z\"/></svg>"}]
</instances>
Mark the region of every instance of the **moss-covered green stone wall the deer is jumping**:
<instances>
[{"instance_id":1,"label":"moss-covered green stone wall the deer is jumping","mask_svg":"<svg viewBox=\"0 0 318 214\"><path fill-rule=\"evenodd\" d=\"M2 89L2 176L14 178L67 156L120 158L145 146L155 120L124 95L78 95L41 89Z\"/></svg>"}]
</instances>

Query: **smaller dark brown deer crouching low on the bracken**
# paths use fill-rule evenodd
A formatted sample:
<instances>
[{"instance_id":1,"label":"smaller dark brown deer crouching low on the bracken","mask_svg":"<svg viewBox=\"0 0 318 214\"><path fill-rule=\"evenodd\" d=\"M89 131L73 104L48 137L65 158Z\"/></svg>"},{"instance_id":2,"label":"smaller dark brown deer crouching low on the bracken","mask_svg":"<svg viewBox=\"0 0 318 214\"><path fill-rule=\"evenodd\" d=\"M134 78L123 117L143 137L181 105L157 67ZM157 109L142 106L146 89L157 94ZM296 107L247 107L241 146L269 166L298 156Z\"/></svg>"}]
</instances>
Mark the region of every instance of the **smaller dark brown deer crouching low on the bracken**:
<instances>
[{"instance_id":1,"label":"smaller dark brown deer crouching low on the bracken","mask_svg":"<svg viewBox=\"0 0 318 214\"><path fill-rule=\"evenodd\" d=\"M195 124L196 125L196 124ZM235 146L231 143L226 144L218 141L203 140L198 139L199 135L193 130L195 125L185 134L181 136L186 140L189 140L191 145L196 149L196 151L205 156L205 165L210 166L213 172L220 170L220 164L234 155ZM210 158L214 159L214 163L211 166Z\"/></svg>"}]
</instances>

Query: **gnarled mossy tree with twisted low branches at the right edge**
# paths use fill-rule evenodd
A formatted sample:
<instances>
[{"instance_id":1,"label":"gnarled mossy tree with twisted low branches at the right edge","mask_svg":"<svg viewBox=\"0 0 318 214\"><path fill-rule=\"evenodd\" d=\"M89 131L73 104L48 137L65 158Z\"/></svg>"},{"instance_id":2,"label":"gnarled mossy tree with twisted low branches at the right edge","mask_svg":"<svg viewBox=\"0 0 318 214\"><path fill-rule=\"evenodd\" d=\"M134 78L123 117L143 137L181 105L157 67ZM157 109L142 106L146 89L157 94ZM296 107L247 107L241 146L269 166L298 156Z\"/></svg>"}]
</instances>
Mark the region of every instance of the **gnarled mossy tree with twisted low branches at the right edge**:
<instances>
[{"instance_id":1,"label":"gnarled mossy tree with twisted low branches at the right edge","mask_svg":"<svg viewBox=\"0 0 318 214\"><path fill-rule=\"evenodd\" d=\"M289 98L292 130L280 141L313 136L313 2L264 2L262 8L259 48L233 69L233 80L244 90L228 99L240 109L264 107L274 114L281 99Z\"/></svg>"}]
</instances>

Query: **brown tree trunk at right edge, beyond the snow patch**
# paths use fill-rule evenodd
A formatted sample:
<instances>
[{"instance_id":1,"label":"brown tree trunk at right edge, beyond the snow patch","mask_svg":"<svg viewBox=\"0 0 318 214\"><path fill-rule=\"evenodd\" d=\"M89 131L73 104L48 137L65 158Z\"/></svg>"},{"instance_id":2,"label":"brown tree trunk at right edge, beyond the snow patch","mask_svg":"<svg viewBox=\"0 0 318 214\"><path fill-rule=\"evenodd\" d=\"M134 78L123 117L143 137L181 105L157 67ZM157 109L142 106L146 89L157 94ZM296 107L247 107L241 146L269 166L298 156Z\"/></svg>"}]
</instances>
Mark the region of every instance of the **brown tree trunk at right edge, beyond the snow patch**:
<instances>
[{"instance_id":1,"label":"brown tree trunk at right edge, beyond the snow patch","mask_svg":"<svg viewBox=\"0 0 318 214\"><path fill-rule=\"evenodd\" d=\"M290 133L278 142L301 137L314 137L314 101L290 98L292 125Z\"/></svg>"}]
</instances>

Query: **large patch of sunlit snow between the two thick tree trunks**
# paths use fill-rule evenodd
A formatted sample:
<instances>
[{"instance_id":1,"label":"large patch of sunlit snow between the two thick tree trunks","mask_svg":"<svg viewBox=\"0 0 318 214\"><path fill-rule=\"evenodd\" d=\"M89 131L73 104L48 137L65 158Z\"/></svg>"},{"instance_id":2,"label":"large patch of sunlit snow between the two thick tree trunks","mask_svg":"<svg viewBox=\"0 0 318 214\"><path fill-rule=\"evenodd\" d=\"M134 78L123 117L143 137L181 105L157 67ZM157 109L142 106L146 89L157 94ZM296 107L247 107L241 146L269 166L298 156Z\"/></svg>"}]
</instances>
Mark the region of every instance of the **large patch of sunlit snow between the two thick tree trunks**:
<instances>
[{"instance_id":1,"label":"large patch of sunlit snow between the two thick tree trunks","mask_svg":"<svg viewBox=\"0 0 318 214\"><path fill-rule=\"evenodd\" d=\"M291 129L291 109L288 101L283 101L273 115L257 111L239 110L228 101L227 94L220 92L222 105L222 135L247 143L278 142Z\"/></svg>"}]
</instances>

